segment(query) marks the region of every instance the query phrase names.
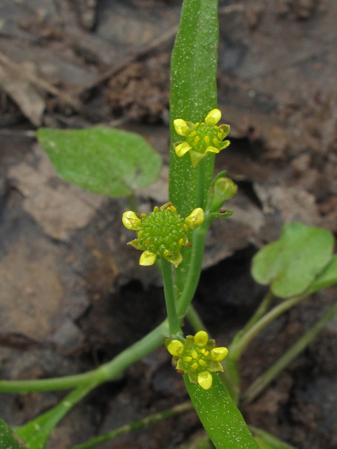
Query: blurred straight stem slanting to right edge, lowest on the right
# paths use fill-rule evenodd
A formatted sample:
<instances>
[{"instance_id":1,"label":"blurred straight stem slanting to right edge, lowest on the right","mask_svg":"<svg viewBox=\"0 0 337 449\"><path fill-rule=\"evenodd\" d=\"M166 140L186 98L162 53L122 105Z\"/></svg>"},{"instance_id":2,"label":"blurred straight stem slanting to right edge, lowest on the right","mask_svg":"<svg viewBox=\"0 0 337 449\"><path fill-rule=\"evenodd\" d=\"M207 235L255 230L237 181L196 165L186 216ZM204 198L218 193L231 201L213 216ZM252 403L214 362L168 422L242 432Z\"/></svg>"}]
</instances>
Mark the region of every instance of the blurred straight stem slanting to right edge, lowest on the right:
<instances>
[{"instance_id":1,"label":"blurred straight stem slanting to right edge, lowest on the right","mask_svg":"<svg viewBox=\"0 0 337 449\"><path fill-rule=\"evenodd\" d=\"M267 387L272 380L281 373L286 366L293 361L294 358L300 354L307 346L308 344L317 336L319 332L324 328L326 323L328 323L331 319L333 319L333 316L337 314L337 302L336 304L333 304L330 309L328 309L323 316L315 323L312 328L310 328L300 339L293 344L293 346L286 351L286 353L279 358L277 362L275 362L270 368L268 368L263 375L260 375L256 379L255 382L251 384L249 388L246 389L242 396L241 405L242 408L248 406L253 399L260 394L260 392Z\"/></svg>"}]
</instances>

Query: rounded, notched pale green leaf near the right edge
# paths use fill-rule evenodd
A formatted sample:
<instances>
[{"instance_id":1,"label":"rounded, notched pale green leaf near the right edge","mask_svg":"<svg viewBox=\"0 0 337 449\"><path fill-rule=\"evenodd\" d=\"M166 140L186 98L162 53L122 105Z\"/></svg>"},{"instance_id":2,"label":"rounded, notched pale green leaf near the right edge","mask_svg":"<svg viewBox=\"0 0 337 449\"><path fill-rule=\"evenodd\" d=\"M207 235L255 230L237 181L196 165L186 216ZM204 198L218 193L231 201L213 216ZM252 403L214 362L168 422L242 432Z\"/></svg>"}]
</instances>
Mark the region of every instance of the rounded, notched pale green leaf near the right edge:
<instances>
[{"instance_id":1,"label":"rounded, notched pale green leaf near the right edge","mask_svg":"<svg viewBox=\"0 0 337 449\"><path fill-rule=\"evenodd\" d=\"M256 282L270 284L278 297L300 295L330 262L333 244L326 229L290 223L278 241L253 257L251 274Z\"/></svg>"}]
</instances>

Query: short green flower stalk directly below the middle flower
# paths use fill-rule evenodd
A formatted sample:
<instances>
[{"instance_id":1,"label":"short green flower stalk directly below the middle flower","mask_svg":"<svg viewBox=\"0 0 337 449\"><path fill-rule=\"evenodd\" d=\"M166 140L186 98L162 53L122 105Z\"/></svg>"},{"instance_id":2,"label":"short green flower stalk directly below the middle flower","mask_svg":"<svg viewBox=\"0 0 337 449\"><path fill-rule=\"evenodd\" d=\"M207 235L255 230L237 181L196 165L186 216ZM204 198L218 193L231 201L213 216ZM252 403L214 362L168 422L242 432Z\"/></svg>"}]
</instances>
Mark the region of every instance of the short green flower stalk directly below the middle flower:
<instances>
[{"instance_id":1,"label":"short green flower stalk directly below the middle flower","mask_svg":"<svg viewBox=\"0 0 337 449\"><path fill-rule=\"evenodd\" d=\"M170 337L173 340L184 340L183 331L179 326L176 302L174 300L173 281L172 281L172 266L171 263L164 259L161 259L161 274L164 281L164 293L167 310L167 318L169 320Z\"/></svg>"}]
</instances>

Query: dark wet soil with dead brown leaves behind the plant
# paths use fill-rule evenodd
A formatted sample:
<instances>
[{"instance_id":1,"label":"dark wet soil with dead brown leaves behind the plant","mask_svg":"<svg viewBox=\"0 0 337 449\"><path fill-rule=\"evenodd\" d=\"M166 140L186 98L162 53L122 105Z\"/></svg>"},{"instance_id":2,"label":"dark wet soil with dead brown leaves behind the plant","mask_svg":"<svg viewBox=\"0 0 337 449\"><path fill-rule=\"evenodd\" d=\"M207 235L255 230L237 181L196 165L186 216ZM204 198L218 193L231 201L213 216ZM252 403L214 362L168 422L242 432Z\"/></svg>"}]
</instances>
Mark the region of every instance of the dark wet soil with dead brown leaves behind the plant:
<instances>
[{"instance_id":1,"label":"dark wet soil with dead brown leaves behind the plant","mask_svg":"<svg viewBox=\"0 0 337 449\"><path fill-rule=\"evenodd\" d=\"M0 4L1 379L95 368L164 319L156 269L145 276L138 253L126 246L126 201L59 180L34 130L101 124L142 134L164 168L159 181L137 192L140 209L165 203L169 59L181 3ZM234 215L209 232L194 304L227 345L265 293L250 276L258 248L294 220L337 233L337 4L220 1L219 21L218 101L232 145L218 155L216 171L228 170L239 194L228 204ZM72 210L79 210L76 220ZM242 389L336 297L337 288L312 295L261 333L244 353ZM332 322L244 410L247 422L298 449L336 449L336 360ZM63 396L0 394L0 417L20 425ZM81 401L47 448L70 448L185 400L183 380L160 348ZM101 447L173 448L201 434L189 412Z\"/></svg>"}]
</instances>

